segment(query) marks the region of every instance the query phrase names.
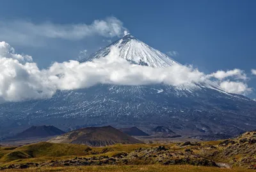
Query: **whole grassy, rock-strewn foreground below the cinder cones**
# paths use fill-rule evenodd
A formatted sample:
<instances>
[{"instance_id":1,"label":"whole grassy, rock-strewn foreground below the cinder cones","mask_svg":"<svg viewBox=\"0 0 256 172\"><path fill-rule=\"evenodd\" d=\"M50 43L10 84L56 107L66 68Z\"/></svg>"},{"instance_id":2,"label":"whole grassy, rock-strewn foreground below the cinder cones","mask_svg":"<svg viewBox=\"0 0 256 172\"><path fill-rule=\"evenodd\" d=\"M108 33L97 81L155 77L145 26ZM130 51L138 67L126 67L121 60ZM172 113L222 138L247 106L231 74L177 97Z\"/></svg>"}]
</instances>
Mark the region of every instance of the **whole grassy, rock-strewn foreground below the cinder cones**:
<instances>
[{"instance_id":1,"label":"whole grassy, rock-strewn foreground below the cinder cones","mask_svg":"<svg viewBox=\"0 0 256 172\"><path fill-rule=\"evenodd\" d=\"M256 132L200 143L0 146L0 171L255 171ZM223 167L223 168L220 168Z\"/></svg>"}]
</instances>

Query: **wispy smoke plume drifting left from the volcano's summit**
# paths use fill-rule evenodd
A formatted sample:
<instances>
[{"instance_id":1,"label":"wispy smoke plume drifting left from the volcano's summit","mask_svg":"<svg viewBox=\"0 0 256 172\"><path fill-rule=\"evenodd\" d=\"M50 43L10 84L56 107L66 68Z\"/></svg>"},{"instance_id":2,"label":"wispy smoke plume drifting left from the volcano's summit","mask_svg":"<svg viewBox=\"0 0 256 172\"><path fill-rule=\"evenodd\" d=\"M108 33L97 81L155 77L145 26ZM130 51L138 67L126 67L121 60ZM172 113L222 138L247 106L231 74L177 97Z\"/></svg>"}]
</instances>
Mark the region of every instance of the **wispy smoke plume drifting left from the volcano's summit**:
<instances>
[{"instance_id":1,"label":"wispy smoke plume drifting left from the volcano's summit","mask_svg":"<svg viewBox=\"0 0 256 172\"><path fill-rule=\"evenodd\" d=\"M43 38L63 40L83 40L86 37L100 35L106 38L123 36L127 30L115 17L94 20L92 24L54 24L52 22L33 23L26 20L12 22L0 21L0 40L33 45Z\"/></svg>"}]
</instances>

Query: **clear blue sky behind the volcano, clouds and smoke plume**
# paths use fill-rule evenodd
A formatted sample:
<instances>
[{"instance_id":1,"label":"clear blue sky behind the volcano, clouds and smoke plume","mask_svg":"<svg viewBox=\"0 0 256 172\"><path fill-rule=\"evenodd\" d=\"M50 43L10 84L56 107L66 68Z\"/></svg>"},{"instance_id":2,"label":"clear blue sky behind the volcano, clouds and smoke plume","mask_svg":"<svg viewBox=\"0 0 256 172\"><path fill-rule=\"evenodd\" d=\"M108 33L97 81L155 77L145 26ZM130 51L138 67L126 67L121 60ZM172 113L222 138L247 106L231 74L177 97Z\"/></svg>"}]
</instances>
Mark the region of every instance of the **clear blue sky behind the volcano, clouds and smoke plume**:
<instances>
[{"instance_id":1,"label":"clear blue sky behind the volcano, clouds and smoke plume","mask_svg":"<svg viewBox=\"0 0 256 172\"><path fill-rule=\"evenodd\" d=\"M173 57L210 74L217 70L244 70L248 86L256 88L251 69L256 68L256 1L19 1L2 0L0 21L7 29L13 22L57 26L92 24L116 17L129 32L162 51L179 52ZM1 31L1 30L0 30ZM17 40L1 35L19 53L33 56L40 68L53 61L76 59L108 45L118 36L93 35L78 40L40 38ZM104 40L104 41L103 41ZM248 95L256 97L255 91Z\"/></svg>"}]
</instances>

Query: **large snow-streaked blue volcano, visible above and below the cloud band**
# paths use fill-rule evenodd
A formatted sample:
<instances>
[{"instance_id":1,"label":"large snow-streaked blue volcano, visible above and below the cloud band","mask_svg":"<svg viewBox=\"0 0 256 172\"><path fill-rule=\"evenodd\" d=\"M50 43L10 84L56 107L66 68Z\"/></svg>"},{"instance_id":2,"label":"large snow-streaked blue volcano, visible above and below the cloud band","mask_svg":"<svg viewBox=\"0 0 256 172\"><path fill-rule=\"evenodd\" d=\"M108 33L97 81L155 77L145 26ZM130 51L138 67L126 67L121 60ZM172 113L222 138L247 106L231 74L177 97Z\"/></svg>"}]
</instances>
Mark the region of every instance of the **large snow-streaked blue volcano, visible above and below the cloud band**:
<instances>
[{"instance_id":1,"label":"large snow-streaked blue volcano, visible above and below the cloud band","mask_svg":"<svg viewBox=\"0 0 256 172\"><path fill-rule=\"evenodd\" d=\"M121 58L132 64L154 68L179 64L132 35L125 35L81 63L105 58L113 46ZM227 93L211 81L179 86L97 84L58 91L45 100L0 104L0 136L15 134L31 125L54 125L66 131L111 125L138 126L148 134L163 126L176 134L211 139L256 129L255 111L255 101Z\"/></svg>"}]
</instances>

